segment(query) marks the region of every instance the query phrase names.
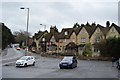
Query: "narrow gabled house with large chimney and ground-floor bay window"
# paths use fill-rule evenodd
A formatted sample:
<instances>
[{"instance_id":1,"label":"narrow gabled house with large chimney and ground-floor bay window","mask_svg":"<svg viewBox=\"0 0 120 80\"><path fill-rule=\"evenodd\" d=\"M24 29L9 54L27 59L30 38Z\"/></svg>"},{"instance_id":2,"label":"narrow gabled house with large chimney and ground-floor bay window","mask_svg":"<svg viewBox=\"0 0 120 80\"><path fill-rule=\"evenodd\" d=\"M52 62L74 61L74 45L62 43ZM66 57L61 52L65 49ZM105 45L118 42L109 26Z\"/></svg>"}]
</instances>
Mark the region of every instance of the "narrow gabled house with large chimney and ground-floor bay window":
<instances>
[{"instance_id":1,"label":"narrow gabled house with large chimney and ground-floor bay window","mask_svg":"<svg viewBox=\"0 0 120 80\"><path fill-rule=\"evenodd\" d=\"M46 52L47 53L58 53L59 47L59 32L56 26L50 27L50 33L45 36L46 40Z\"/></svg>"}]
</instances>

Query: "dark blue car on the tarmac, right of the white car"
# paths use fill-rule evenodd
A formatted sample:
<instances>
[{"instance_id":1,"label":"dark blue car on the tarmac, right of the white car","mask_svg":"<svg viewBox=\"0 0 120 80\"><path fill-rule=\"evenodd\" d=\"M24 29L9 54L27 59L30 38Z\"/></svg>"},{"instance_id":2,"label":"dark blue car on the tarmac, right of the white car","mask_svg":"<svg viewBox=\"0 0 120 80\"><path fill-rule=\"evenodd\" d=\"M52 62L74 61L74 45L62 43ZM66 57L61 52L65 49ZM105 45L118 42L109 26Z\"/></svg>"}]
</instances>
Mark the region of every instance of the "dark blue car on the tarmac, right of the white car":
<instances>
[{"instance_id":1,"label":"dark blue car on the tarmac, right of the white car","mask_svg":"<svg viewBox=\"0 0 120 80\"><path fill-rule=\"evenodd\" d=\"M77 59L75 56L65 56L59 63L60 69L77 67Z\"/></svg>"}]
</instances>

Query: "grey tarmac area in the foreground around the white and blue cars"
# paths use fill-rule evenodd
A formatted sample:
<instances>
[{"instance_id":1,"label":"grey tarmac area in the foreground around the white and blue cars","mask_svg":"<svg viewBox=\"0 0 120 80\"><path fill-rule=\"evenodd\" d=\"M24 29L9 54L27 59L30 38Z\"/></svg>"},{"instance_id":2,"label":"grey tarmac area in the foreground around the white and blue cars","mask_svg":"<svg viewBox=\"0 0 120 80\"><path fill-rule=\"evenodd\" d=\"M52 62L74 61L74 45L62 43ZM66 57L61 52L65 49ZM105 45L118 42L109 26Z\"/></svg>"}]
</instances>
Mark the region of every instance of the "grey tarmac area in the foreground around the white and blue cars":
<instances>
[{"instance_id":1,"label":"grey tarmac area in the foreground around the white and blue cars","mask_svg":"<svg viewBox=\"0 0 120 80\"><path fill-rule=\"evenodd\" d=\"M34 54L32 54L34 55ZM15 67L15 62L2 67L3 78L118 78L118 70L108 61L78 60L74 69L59 69L56 58L36 56L36 65Z\"/></svg>"}]
</instances>

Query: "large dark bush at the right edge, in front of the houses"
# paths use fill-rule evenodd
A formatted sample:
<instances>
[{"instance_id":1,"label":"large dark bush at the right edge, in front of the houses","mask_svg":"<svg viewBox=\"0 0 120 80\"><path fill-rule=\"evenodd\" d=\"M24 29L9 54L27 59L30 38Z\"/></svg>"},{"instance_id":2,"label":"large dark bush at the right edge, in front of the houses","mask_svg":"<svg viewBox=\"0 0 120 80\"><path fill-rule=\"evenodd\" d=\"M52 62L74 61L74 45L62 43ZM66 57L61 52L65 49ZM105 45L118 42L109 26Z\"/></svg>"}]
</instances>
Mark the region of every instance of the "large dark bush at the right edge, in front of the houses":
<instances>
[{"instance_id":1,"label":"large dark bush at the right edge, in front of the houses","mask_svg":"<svg viewBox=\"0 0 120 80\"><path fill-rule=\"evenodd\" d=\"M120 37L108 38L98 44L102 56L120 57Z\"/></svg>"}]
</instances>

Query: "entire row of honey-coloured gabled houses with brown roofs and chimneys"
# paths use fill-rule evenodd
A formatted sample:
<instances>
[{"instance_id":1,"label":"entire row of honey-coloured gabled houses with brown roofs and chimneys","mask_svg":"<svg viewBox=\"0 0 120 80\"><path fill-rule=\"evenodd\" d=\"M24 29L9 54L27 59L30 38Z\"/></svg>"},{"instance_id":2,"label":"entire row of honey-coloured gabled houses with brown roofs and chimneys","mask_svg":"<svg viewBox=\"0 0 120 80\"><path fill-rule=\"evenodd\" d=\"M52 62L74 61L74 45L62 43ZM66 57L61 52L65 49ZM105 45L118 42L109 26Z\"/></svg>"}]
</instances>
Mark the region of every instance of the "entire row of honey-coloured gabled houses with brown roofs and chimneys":
<instances>
[{"instance_id":1,"label":"entire row of honey-coloured gabled houses with brown roofs and chimneys","mask_svg":"<svg viewBox=\"0 0 120 80\"><path fill-rule=\"evenodd\" d=\"M44 36L43 36L44 35ZM72 52L82 55L85 45L91 44L92 56L99 56L100 51L95 47L96 43L109 37L119 37L120 27L112 23L111 26L102 26L75 23L72 28L63 28L58 32L56 26L50 27L50 32L38 32L35 35L37 49L47 53ZM41 46L40 46L41 45Z\"/></svg>"}]
</instances>

